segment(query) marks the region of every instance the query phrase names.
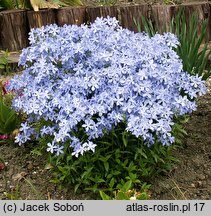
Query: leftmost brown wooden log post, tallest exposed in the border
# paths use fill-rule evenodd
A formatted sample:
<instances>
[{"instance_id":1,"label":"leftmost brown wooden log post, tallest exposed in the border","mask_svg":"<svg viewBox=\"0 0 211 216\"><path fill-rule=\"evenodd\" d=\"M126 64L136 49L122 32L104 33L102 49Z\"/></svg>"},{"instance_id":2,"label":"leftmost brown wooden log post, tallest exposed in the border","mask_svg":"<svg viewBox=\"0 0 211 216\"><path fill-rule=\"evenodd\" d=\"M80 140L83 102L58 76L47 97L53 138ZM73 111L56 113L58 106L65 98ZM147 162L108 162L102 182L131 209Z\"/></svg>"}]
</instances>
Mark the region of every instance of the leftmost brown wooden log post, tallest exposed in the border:
<instances>
[{"instance_id":1,"label":"leftmost brown wooden log post, tallest exposed in the border","mask_svg":"<svg viewBox=\"0 0 211 216\"><path fill-rule=\"evenodd\" d=\"M28 45L29 26L25 10L0 12L0 29L1 49L15 51Z\"/></svg>"}]
</instances>

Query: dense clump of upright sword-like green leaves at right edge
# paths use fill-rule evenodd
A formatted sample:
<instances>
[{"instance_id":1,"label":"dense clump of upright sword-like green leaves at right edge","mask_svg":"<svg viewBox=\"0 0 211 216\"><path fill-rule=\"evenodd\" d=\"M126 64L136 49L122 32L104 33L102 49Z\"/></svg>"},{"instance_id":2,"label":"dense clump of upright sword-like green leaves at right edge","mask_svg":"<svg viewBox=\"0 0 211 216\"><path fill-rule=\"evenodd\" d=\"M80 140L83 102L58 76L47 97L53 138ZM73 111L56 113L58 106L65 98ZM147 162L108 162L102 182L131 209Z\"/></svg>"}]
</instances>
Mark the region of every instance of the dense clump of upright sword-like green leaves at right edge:
<instances>
[{"instance_id":1,"label":"dense clump of upright sword-like green leaves at right edge","mask_svg":"<svg viewBox=\"0 0 211 216\"><path fill-rule=\"evenodd\" d=\"M211 75L211 68L205 72L211 50L208 50L207 43L205 43L203 48L201 48L201 45L205 41L208 20L202 23L199 35L198 26L199 21L196 13L192 14L189 26L186 24L183 12L172 20L172 31L178 35L181 43L177 49L177 53L183 60L184 70L193 75L203 75L203 78L207 79Z\"/></svg>"}]
</instances>

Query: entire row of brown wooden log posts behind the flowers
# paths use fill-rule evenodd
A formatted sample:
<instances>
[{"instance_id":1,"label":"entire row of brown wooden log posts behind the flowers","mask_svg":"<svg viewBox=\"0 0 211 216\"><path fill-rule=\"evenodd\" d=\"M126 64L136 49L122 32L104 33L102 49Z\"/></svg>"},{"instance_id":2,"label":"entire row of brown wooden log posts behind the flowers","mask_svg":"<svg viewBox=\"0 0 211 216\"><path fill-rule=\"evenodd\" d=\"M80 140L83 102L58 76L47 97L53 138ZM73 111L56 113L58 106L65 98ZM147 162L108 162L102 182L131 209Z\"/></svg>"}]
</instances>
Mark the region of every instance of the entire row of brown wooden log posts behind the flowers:
<instances>
[{"instance_id":1,"label":"entire row of brown wooden log posts behind the flowers","mask_svg":"<svg viewBox=\"0 0 211 216\"><path fill-rule=\"evenodd\" d=\"M186 5L133 5L133 6L99 6L99 7L65 7L60 9L46 9L38 12L29 10L12 10L0 12L0 49L17 51L28 46L28 33L31 28L41 27L51 23L60 26L93 22L96 17L116 17L120 24L133 31L137 31L134 19L141 20L141 16L157 21L160 28L168 26L172 17L183 7L188 21L190 15L196 11L199 23L209 19L207 40L211 40L211 3L195 3ZM200 29L200 26L199 26Z\"/></svg>"}]
</instances>

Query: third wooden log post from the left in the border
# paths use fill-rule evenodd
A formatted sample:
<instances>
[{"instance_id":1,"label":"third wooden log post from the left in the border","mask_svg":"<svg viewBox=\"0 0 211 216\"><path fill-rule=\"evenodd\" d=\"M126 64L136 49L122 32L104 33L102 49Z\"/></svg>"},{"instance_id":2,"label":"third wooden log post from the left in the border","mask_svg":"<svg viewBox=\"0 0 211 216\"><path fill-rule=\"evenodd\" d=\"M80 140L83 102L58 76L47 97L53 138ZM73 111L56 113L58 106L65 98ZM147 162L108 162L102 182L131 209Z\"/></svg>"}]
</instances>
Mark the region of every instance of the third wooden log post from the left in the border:
<instances>
[{"instance_id":1,"label":"third wooden log post from the left in the border","mask_svg":"<svg viewBox=\"0 0 211 216\"><path fill-rule=\"evenodd\" d=\"M64 24L81 25L86 22L86 8L85 7L65 7L60 8L56 14L57 24L63 26Z\"/></svg>"}]
</instances>

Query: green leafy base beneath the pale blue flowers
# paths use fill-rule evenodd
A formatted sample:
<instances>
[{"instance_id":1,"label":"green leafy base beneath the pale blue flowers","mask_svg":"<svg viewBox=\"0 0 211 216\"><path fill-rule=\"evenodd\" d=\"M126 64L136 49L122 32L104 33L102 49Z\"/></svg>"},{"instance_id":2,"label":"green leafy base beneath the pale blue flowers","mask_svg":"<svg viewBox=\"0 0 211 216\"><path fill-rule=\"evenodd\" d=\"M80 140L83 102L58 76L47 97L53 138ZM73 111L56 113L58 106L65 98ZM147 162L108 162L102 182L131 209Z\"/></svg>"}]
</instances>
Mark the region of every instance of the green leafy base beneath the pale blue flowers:
<instances>
[{"instance_id":1,"label":"green leafy base beneath the pale blue flowers","mask_svg":"<svg viewBox=\"0 0 211 216\"><path fill-rule=\"evenodd\" d=\"M174 132L180 134L177 128ZM41 145L46 145L48 140L47 136L42 138ZM176 145L163 146L156 142L147 146L141 138L126 132L123 122L96 143L94 154L85 152L79 158L71 155L69 143L65 144L64 154L49 154L49 164L55 176L51 182L73 186L75 192L83 189L112 194L121 190L120 196L128 191L126 182L130 182L132 188L140 188L152 176L168 172L171 162L176 160L172 156Z\"/></svg>"}]
</instances>

